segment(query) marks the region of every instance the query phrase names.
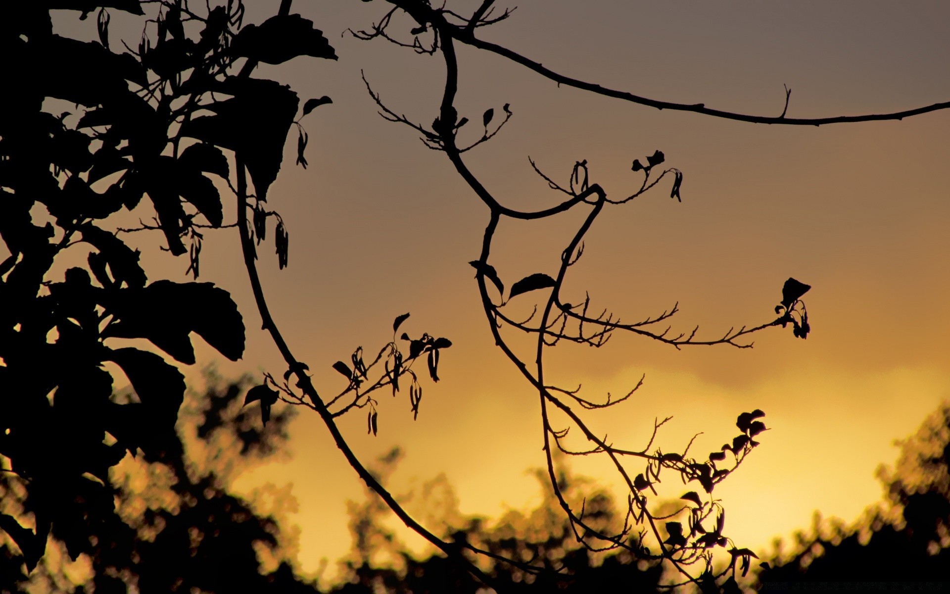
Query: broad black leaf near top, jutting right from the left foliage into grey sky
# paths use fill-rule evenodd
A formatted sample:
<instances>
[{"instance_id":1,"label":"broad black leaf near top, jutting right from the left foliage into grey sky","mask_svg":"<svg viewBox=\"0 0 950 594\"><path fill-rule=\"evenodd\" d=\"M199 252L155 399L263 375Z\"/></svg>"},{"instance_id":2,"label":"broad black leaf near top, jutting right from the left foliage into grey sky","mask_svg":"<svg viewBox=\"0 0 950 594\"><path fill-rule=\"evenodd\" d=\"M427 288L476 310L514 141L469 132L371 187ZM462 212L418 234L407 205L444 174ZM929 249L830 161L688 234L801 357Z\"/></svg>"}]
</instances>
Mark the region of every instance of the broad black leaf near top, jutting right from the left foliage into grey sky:
<instances>
[{"instance_id":1,"label":"broad black leaf near top, jutting right from the left foliage into grey sky","mask_svg":"<svg viewBox=\"0 0 950 594\"><path fill-rule=\"evenodd\" d=\"M282 64L297 56L336 59L323 32L299 14L278 14L260 25L248 25L237 33L231 51L265 64Z\"/></svg>"}]
</instances>

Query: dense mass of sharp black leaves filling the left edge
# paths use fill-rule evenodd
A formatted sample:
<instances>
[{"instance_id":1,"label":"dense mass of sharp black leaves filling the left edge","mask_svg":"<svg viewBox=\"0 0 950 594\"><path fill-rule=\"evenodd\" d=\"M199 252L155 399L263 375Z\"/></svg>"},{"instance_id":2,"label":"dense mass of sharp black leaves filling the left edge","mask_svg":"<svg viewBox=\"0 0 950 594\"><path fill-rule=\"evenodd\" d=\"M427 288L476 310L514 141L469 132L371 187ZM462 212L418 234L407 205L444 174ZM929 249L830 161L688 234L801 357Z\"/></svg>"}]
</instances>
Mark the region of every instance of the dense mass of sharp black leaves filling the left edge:
<instances>
[{"instance_id":1,"label":"dense mass of sharp black leaves filling the left edge","mask_svg":"<svg viewBox=\"0 0 950 594\"><path fill-rule=\"evenodd\" d=\"M80 10L85 18L97 8L98 42L53 32L51 9ZM151 12L137 50L116 50L107 9ZM263 236L276 213L260 204L280 168L297 97L229 70L242 57L247 66L335 54L298 15L236 34L243 13L240 2L203 15L181 2L0 6L0 238L9 252L0 263L0 454L10 459L3 471L24 481L24 510L34 524L5 514L0 528L28 569L50 533L73 558L94 552L90 535L115 522L108 472L126 452L155 462L177 455L182 375L160 354L117 339L144 338L185 364L195 362L192 333L229 359L244 351L242 317L225 291L210 283L149 283L138 251L106 221L147 196L157 216L142 229L161 230L173 255L188 253L198 278L200 229L223 226L209 176L230 184L220 150L227 148L255 183ZM74 111L50 112L67 104ZM276 239L283 266L282 222ZM57 272L59 262L79 261L82 250L85 267ZM112 396L116 378L106 362L135 390L128 402Z\"/></svg>"}]
</instances>

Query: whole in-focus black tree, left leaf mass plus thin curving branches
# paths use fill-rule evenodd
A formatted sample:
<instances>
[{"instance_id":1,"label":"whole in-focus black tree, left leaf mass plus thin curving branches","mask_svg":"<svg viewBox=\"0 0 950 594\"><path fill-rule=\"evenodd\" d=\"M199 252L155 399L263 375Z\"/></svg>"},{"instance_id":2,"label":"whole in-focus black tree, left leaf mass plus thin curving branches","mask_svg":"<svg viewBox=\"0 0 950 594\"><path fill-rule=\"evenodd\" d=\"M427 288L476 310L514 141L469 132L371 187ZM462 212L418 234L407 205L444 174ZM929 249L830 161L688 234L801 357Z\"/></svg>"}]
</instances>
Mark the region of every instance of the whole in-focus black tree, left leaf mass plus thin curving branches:
<instances>
[{"instance_id":1,"label":"whole in-focus black tree, left leaf mass plus thin curving branches","mask_svg":"<svg viewBox=\"0 0 950 594\"><path fill-rule=\"evenodd\" d=\"M118 526L109 469L126 452L141 455L149 463L172 466L180 458L174 426L185 390L182 375L162 355L140 348L141 340L123 343L122 339L147 340L156 350L184 364L195 362L191 333L232 360L243 353L243 318L225 291L210 283L148 282L139 254L106 228L105 220L111 215L123 208L135 209L147 196L154 220L119 231L160 231L163 249L174 256L188 255L189 272L196 280L204 230L237 227L263 328L287 366L282 378L265 374L263 382L245 396L245 404L258 403L263 424L273 422L272 407L278 399L313 409L370 489L408 527L447 555L449 563L481 583L500 591L510 589L510 584L486 574L469 557L473 553L510 563L538 580L560 579L551 574L571 571L566 560L547 565L523 562L509 557L510 551L495 552L467 539L440 538L424 527L357 458L336 425L341 415L365 410L368 431L375 433L375 394L386 388L399 393L407 384L412 411L417 413L424 374L413 366L425 358L429 377L438 381L440 356L451 341L428 334L412 338L406 332L397 338L409 315L398 316L392 340L369 362L364 360L363 350L357 349L350 363L333 365L347 377L348 385L333 397L323 397L307 373L307 364L296 358L269 312L257 274L257 249L267 239L273 219L277 264L284 268L289 262L289 234L284 220L268 208L268 190L276 180L283 146L294 126L298 131L296 162L307 166L309 137L300 119L331 100L310 99L301 109L289 87L253 74L260 63L281 64L300 56L336 58L322 32L314 29L311 21L291 13L291 4L282 0L275 16L247 26L243 25L244 6L239 0L198 7L185 0L65 0L0 7L0 49L5 56L17 56L0 65L0 77L16 89L0 95L0 237L10 253L0 263L0 315L4 316L0 324L4 362L0 384L6 391L0 404L4 407L0 453L10 460L10 468L3 470L6 479L19 485L23 500L21 511L0 515L0 529L18 547L16 554L22 556L28 571L42 558L49 535L62 542L73 558L81 553L100 554L97 547L106 543L92 537L112 534L109 527ZM592 431L582 412L616 406L637 386L618 399L581 396L580 390L545 379L544 355L564 342L600 347L617 331L677 349L716 344L746 348L751 346L749 335L789 324L793 335L805 338L810 327L800 297L808 285L789 278L775 316L769 314L763 323L712 338L699 337L697 329L654 330L678 312L676 306L627 322L607 310L598 314L599 308L592 309L588 295L562 295L564 279L580 258L594 220L603 212L631 203L664 178L670 182L671 198L680 201L683 173L663 168L665 155L656 150L645 158L646 164L640 159L632 163L641 179L629 195L613 198L589 179L586 161L575 164L566 182L555 181L532 163L543 182L565 198L539 211L505 206L469 169L463 155L493 139L513 112L510 105L504 105L504 118L499 114L496 119L495 108L489 107L481 114L481 130L469 133L477 125L464 128L469 120L460 118L454 106L459 81L455 45L492 51L561 84L634 103L763 124L901 119L950 105L891 114L796 119L787 117L788 94L786 108L778 118L657 102L562 76L516 52L480 40L478 29L510 14L504 10L493 16L493 4L485 0L470 16L462 16L428 0L390 0L392 8L378 25L353 33L363 39L382 37L444 59L446 83L431 125L410 121L384 105L369 84L368 89L384 117L409 125L428 147L445 152L449 163L488 207L481 254L470 264L475 268L486 321L496 344L539 396L546 472L573 537L591 551L618 548L648 564L665 561L681 573L683 584L734 588L736 567L746 572L752 553L734 546L724 534L725 512L712 490L758 445L755 438L766 429L758 420L764 412L740 414L736 423L740 433L708 456L690 456L690 444L678 451L655 446L656 432L665 422L659 420L645 448L618 447ZM52 9L80 10L81 18L95 11L99 41L84 43L53 33ZM149 12L149 17L143 18L138 48L113 48L109 10L142 17ZM396 11L405 12L415 22L409 30L412 41L400 41L403 32L390 32ZM77 111L59 115L49 111L49 105L67 104L76 105ZM225 188L224 196L237 201L233 223L225 223ZM553 255L550 270L514 282L499 277L489 259L501 220L545 220L579 209L586 212L584 220L561 252ZM87 252L85 265L70 267L60 276L57 264L74 261L76 253L83 250ZM512 299L529 297L538 298L535 314L529 318L517 319L505 309ZM512 332L533 336L535 343L529 352L520 353L513 346L508 338ZM405 343L404 352L401 345ZM115 378L106 364L118 366L134 396L122 400L114 393ZM570 428L585 442L578 450L567 439ZM621 526L601 527L586 503L579 508L569 500L558 478L558 450L567 455L596 454L611 461L629 488ZM631 469L633 464L638 464L640 471ZM681 501L686 503L680 508L662 515L648 507L658 496L661 473L678 476L684 483L695 482L697 489L682 495ZM237 505L223 499L219 503L232 508ZM120 546L127 538L122 536L123 530L128 534L122 527L115 528L109 546ZM169 532L169 537L172 534ZM719 570L712 564L712 550L717 547L726 548L731 559ZM144 579L150 581L153 576L147 574ZM161 584L158 575L154 579ZM223 587L196 584L206 586Z\"/></svg>"}]
</instances>

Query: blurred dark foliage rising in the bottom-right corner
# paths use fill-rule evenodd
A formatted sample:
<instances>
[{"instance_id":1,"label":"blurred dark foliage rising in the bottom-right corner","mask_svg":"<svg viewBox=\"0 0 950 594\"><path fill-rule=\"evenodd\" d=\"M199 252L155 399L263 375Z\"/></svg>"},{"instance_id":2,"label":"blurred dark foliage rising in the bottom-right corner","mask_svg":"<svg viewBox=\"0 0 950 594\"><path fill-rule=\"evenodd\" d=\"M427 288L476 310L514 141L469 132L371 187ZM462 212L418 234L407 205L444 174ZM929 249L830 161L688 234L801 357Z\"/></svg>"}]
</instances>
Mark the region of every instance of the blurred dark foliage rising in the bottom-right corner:
<instances>
[{"instance_id":1,"label":"blurred dark foliage rising in the bottom-right corner","mask_svg":"<svg viewBox=\"0 0 950 594\"><path fill-rule=\"evenodd\" d=\"M950 403L901 446L896 468L878 471L883 502L850 527L816 518L791 551L766 562L758 575L763 589L854 590L877 583L878 589L950 591Z\"/></svg>"}]
</instances>

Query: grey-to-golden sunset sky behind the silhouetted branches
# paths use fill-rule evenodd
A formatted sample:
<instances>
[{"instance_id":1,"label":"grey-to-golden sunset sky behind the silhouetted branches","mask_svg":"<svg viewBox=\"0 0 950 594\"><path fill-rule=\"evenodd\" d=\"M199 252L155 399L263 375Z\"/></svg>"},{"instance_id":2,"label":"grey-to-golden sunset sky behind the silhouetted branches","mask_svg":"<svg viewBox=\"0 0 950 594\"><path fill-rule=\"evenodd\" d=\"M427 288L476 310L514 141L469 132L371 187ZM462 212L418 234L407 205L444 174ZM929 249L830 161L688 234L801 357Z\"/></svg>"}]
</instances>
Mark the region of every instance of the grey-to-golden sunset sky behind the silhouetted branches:
<instances>
[{"instance_id":1,"label":"grey-to-golden sunset sky behind the silhouetted branches","mask_svg":"<svg viewBox=\"0 0 950 594\"><path fill-rule=\"evenodd\" d=\"M248 4L246 22L259 22L278 2ZM950 99L950 5L941 1L517 6L507 22L480 29L485 38L564 74L656 99L778 115L785 84L788 115L798 117ZM367 461L395 445L406 450L394 490L445 472L463 511L495 515L540 499L525 472L543 462L538 398L494 349L480 313L467 261L478 256L487 208L444 155L376 116L360 80L362 68L387 105L428 123L437 114L443 63L381 40L340 36L367 28L388 7L297 0L294 10L324 30L339 60L259 68L258 76L290 84L303 99L333 98L304 120L307 170L293 165L292 133L269 193L288 221L290 267L278 271L267 247L261 274L278 325L321 393L342 388L333 361L349 359L358 345L378 349L399 314L411 312L410 334L454 342L442 359L443 381L426 384L417 421L404 394L382 398L378 437L366 435L362 413L341 425ZM93 19L79 24L66 14L70 28L94 28ZM405 35L405 25L393 31ZM620 335L601 350L563 347L552 358L559 379L582 383L592 398L624 392L646 374L637 397L590 415L592 425L635 447L655 416L674 415L659 445L675 450L705 431L695 450L702 452L731 438L739 412L767 412L771 431L762 446L715 491L740 546L766 546L807 527L814 509L850 521L878 500L874 471L894 459L893 440L950 393L950 112L818 128L750 125L558 88L501 58L459 53L460 115L477 122L486 108L500 113L505 103L515 114L467 156L504 203L560 201L528 156L564 181L586 159L592 181L612 196L638 185L630 163L656 149L685 174L682 203L669 199L664 184L598 220L567 294L588 290L595 304L626 319L656 315L678 300L675 328L700 324L700 335L715 336L771 319L789 276L814 287L806 296L807 340L778 329L741 351L677 352ZM571 215L506 221L491 261L508 285L551 273L557 245L576 222ZM146 270L151 278L181 278L187 262L160 252L159 240L141 238ZM257 330L237 234L209 233L204 254L202 279L232 292L248 326L242 361L214 359L207 348L204 360L223 374L282 373L276 349ZM333 561L349 548L345 502L362 497L361 485L315 413L295 422L292 450L292 461L257 470L240 485L294 483L299 561L313 570L321 557ZM573 468L617 484L597 462Z\"/></svg>"}]
</instances>

